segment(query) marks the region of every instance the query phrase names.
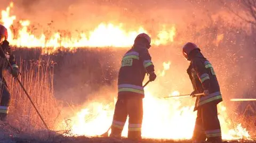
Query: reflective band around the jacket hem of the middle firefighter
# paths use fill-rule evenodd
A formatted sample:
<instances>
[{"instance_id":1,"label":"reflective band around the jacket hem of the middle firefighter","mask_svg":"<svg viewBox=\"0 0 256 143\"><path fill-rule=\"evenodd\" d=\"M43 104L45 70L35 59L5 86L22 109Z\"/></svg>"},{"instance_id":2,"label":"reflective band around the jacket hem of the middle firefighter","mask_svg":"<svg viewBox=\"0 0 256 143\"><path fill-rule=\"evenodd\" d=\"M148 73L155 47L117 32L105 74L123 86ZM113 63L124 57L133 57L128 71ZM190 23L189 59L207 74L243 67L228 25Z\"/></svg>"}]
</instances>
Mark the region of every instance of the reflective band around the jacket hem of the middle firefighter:
<instances>
[{"instance_id":1,"label":"reflective band around the jacket hem of the middle firefighter","mask_svg":"<svg viewBox=\"0 0 256 143\"><path fill-rule=\"evenodd\" d=\"M130 91L130 92L135 92L138 94L144 94L143 87L130 85L130 84L118 85L118 92L121 92L121 91Z\"/></svg>"}]
</instances>

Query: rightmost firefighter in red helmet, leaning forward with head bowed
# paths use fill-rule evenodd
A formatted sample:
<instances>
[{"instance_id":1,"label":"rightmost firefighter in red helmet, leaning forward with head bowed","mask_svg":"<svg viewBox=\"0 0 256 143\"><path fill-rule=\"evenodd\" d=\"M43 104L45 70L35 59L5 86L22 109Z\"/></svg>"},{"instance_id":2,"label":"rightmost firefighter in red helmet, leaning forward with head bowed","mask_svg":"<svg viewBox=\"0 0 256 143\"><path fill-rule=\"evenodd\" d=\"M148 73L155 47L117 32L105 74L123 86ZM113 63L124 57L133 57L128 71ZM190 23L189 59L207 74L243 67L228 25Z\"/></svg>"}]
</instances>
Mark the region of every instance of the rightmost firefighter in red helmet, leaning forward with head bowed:
<instances>
[{"instance_id":1,"label":"rightmost firefighter in red helmet, leaning forward with head bowed","mask_svg":"<svg viewBox=\"0 0 256 143\"><path fill-rule=\"evenodd\" d=\"M213 66L194 43L183 46L183 55L190 61L187 73L194 88L191 96L203 93L196 99L193 142L204 142L206 139L207 142L222 142L217 112L217 104L222 102L222 96Z\"/></svg>"}]
</instances>

